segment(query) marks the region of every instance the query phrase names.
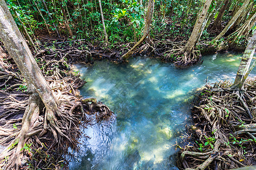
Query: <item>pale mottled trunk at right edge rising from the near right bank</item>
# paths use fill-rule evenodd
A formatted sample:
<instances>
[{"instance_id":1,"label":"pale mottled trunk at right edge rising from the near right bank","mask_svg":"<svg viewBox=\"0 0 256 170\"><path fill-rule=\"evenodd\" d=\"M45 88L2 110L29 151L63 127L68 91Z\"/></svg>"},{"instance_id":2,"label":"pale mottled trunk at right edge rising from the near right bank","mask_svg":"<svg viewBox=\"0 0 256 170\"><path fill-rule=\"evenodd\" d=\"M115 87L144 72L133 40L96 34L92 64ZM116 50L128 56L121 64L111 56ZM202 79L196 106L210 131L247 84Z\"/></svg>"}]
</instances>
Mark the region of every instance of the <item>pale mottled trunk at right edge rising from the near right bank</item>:
<instances>
[{"instance_id":1,"label":"pale mottled trunk at right edge rising from the near right bank","mask_svg":"<svg viewBox=\"0 0 256 170\"><path fill-rule=\"evenodd\" d=\"M256 31L254 32L253 36L251 37L248 45L246 46L245 52L243 53L243 57L240 62L240 66L238 67L237 76L234 80L234 84L232 88L238 88L241 90L243 88L243 84L247 76L250 74L250 71L253 70L255 66L255 62L251 65L251 59L253 59L253 55L256 48Z\"/></svg>"}]
</instances>

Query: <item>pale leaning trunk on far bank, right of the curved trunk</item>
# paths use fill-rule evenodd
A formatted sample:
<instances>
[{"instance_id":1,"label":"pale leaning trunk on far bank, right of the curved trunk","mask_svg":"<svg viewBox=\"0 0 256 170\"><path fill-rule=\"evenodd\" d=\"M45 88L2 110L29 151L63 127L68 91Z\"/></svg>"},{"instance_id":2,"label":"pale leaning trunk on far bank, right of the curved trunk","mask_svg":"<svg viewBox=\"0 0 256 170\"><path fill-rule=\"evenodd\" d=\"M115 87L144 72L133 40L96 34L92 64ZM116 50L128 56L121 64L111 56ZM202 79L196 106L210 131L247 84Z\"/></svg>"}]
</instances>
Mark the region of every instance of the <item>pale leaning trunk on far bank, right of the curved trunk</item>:
<instances>
[{"instance_id":1,"label":"pale leaning trunk on far bank, right of the curved trunk","mask_svg":"<svg viewBox=\"0 0 256 170\"><path fill-rule=\"evenodd\" d=\"M205 25L208 22L208 19L206 18L208 17L207 13L211 3L212 0L205 1L204 6L200 12L199 18L196 20L196 24L193 28L191 36L189 37L187 44L181 50L181 53L183 53L184 55L180 61L176 62L176 64L187 65L187 63L189 62L192 50L195 47L196 42L200 39L201 34L205 28Z\"/></svg>"}]
</instances>

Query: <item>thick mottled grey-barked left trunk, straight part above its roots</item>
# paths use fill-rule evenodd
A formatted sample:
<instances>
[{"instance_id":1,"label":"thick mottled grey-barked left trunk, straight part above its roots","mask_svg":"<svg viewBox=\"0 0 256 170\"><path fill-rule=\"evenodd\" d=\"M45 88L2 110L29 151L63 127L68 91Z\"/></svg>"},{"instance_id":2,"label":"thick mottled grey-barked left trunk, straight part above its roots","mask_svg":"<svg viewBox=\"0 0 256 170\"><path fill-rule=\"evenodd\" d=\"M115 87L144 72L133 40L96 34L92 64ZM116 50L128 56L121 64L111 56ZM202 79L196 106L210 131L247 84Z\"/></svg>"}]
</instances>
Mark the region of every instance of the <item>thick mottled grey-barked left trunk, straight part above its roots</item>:
<instances>
[{"instance_id":1,"label":"thick mottled grey-barked left trunk, straight part above its roots","mask_svg":"<svg viewBox=\"0 0 256 170\"><path fill-rule=\"evenodd\" d=\"M53 108L56 108L55 97L32 56L26 41L19 32L5 1L1 0L0 2L0 38L5 48L14 59L24 79L29 84L28 86L31 85L35 88L45 105L53 105Z\"/></svg>"}]
</instances>

